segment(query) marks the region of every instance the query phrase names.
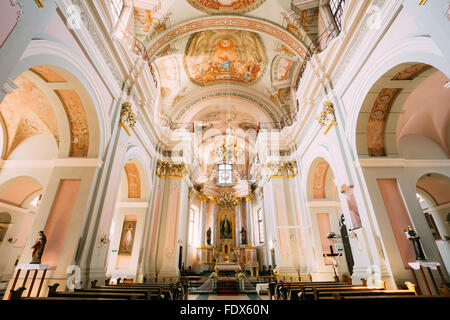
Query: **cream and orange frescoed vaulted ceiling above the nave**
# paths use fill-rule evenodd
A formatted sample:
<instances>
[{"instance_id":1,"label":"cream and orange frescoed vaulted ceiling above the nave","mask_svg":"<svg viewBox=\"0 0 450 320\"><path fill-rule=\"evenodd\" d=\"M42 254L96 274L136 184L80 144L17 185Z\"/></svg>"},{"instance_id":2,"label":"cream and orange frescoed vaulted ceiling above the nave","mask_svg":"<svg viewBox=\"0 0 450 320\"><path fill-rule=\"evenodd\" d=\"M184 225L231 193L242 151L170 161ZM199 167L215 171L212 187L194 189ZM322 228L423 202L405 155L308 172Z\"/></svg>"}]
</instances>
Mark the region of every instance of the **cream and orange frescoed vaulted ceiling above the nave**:
<instances>
[{"instance_id":1,"label":"cream and orange frescoed vaulted ceiling above the nave","mask_svg":"<svg viewBox=\"0 0 450 320\"><path fill-rule=\"evenodd\" d=\"M195 106L247 122L280 121L317 36L319 1L306 2L299 11L290 0L135 0L128 30L157 74L162 119L191 121ZM194 100L205 94L202 107Z\"/></svg>"}]
</instances>

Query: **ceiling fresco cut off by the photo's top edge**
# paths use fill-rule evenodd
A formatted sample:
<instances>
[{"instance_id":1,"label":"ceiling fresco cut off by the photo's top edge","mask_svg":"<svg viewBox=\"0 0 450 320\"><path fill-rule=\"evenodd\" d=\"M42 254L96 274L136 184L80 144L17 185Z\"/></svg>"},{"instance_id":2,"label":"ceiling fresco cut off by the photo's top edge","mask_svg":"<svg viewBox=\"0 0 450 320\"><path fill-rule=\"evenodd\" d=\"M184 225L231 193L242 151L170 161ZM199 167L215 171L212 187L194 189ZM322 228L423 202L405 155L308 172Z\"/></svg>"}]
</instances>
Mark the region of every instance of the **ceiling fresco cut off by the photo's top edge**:
<instances>
[{"instance_id":1,"label":"ceiling fresco cut off by the photo's top edge","mask_svg":"<svg viewBox=\"0 0 450 320\"><path fill-rule=\"evenodd\" d=\"M243 14L256 9L266 0L186 0L194 8L209 14Z\"/></svg>"}]
</instances>

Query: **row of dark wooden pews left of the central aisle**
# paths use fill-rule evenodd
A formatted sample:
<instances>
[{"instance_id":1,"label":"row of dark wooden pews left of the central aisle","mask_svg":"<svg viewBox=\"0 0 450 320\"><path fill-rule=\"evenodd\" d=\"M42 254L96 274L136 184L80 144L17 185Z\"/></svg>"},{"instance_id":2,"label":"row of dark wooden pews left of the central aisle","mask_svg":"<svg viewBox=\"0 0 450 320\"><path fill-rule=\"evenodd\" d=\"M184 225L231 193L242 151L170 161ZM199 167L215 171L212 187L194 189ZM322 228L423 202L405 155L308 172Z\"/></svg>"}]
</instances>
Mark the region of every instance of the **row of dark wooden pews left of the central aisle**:
<instances>
[{"instance_id":1,"label":"row of dark wooden pews left of the central aisle","mask_svg":"<svg viewBox=\"0 0 450 320\"><path fill-rule=\"evenodd\" d=\"M59 284L49 287L48 297L22 297L26 288L11 290L11 300L187 300L189 282L180 279L176 283L117 283L105 281L98 286L97 280L91 282L91 288L58 291Z\"/></svg>"}]
</instances>

